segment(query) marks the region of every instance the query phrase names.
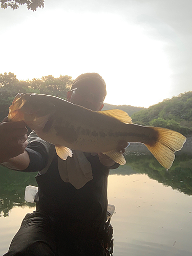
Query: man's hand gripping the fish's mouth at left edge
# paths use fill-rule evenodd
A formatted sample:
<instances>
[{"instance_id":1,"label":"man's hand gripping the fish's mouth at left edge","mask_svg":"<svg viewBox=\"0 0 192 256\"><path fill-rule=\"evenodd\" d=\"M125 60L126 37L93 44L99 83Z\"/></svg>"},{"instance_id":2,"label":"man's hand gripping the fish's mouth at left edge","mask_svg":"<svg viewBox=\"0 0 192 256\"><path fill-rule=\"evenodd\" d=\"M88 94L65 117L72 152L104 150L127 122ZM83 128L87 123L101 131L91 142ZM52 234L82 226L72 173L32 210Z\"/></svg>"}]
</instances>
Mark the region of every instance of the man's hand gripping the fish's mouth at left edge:
<instances>
[{"instance_id":1,"label":"man's hand gripping the fish's mouth at left edge","mask_svg":"<svg viewBox=\"0 0 192 256\"><path fill-rule=\"evenodd\" d=\"M24 153L26 146L26 124L23 121L9 122L6 117L0 123L0 163Z\"/></svg>"}]
</instances>

